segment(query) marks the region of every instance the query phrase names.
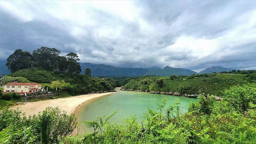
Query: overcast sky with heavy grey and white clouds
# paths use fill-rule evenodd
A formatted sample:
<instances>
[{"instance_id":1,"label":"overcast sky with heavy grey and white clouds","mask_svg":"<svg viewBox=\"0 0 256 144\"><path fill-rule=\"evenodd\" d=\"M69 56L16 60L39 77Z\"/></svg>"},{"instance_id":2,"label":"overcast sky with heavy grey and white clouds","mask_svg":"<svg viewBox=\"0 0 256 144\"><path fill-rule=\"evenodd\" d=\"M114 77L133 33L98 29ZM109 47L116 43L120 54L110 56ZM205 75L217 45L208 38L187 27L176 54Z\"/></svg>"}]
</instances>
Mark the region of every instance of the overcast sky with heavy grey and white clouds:
<instances>
[{"instance_id":1,"label":"overcast sky with heavy grey and white clouds","mask_svg":"<svg viewBox=\"0 0 256 144\"><path fill-rule=\"evenodd\" d=\"M256 69L256 1L0 1L0 60L42 46L115 67Z\"/></svg>"}]
</instances>

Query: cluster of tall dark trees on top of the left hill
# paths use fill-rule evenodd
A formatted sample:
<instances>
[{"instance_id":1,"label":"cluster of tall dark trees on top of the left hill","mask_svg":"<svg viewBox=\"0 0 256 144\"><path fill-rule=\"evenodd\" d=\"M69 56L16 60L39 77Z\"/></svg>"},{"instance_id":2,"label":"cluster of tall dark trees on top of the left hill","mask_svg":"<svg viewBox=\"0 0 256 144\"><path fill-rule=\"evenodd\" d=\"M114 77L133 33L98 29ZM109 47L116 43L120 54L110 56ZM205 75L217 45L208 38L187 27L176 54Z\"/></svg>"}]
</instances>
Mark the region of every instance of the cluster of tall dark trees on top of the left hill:
<instances>
[{"instance_id":1,"label":"cluster of tall dark trees on top of the left hill","mask_svg":"<svg viewBox=\"0 0 256 144\"><path fill-rule=\"evenodd\" d=\"M71 52L65 56L60 56L59 54L59 50L48 47L36 49L32 54L18 49L7 58L6 66L11 72L32 67L71 74L81 72L76 53Z\"/></svg>"}]
</instances>

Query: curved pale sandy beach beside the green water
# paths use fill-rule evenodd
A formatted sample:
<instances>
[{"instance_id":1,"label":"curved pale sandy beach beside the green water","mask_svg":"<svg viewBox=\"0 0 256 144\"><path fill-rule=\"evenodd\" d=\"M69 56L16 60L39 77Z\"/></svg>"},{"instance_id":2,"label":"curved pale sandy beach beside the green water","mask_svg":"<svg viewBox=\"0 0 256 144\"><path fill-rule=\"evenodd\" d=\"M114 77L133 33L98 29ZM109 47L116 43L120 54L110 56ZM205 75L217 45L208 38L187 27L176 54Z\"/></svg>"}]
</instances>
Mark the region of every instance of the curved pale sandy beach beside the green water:
<instances>
[{"instance_id":1,"label":"curved pale sandy beach beside the green water","mask_svg":"<svg viewBox=\"0 0 256 144\"><path fill-rule=\"evenodd\" d=\"M54 100L28 102L24 105L13 106L12 108L20 108L20 110L22 112L25 112L27 116L37 114L38 112L43 111L47 107L59 107L61 110L67 111L68 114L71 114L76 110L76 108L79 105L81 106L84 102L112 93L114 92L85 94L67 98L59 98Z\"/></svg>"}]
</instances>

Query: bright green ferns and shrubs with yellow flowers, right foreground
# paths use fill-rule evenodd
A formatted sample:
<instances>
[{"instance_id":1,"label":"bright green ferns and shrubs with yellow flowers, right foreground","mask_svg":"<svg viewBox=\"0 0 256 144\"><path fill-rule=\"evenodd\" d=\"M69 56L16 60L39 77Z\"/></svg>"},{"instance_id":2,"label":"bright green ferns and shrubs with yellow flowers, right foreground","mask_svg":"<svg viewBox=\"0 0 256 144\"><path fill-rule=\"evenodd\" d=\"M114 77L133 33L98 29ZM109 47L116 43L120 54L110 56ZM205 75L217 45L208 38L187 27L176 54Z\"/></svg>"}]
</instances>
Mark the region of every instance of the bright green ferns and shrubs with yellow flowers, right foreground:
<instances>
[{"instance_id":1,"label":"bright green ferns and shrubs with yellow flowers, right foreground","mask_svg":"<svg viewBox=\"0 0 256 144\"><path fill-rule=\"evenodd\" d=\"M123 120L121 125L102 121L102 117L99 117L95 121L85 122L95 132L68 136L61 143L254 144L256 103L253 99L256 98L256 86L246 84L232 87L223 93L223 97L236 94L243 98L247 95L245 91L250 91L252 100L248 101L249 107L243 111L238 110L242 107L230 105L229 99L215 101L213 96L200 95L198 102L189 105L188 112L180 113L179 102L166 106L167 99L164 99L157 104L158 111L148 108L142 123L137 123L135 116Z\"/></svg>"}]
</instances>

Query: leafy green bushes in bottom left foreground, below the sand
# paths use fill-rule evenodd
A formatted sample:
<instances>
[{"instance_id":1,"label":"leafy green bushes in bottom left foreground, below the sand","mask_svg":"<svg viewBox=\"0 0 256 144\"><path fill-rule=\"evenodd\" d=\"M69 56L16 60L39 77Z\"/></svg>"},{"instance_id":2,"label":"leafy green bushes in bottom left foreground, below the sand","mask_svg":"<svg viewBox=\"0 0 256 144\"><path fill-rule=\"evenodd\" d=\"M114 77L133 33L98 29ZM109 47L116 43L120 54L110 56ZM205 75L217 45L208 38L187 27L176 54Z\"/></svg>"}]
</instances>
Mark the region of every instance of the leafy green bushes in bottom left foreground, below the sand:
<instances>
[{"instance_id":1,"label":"leafy green bushes in bottom left foreground, below the sand","mask_svg":"<svg viewBox=\"0 0 256 144\"><path fill-rule=\"evenodd\" d=\"M59 108L46 108L26 117L20 110L4 108L0 112L0 144L53 144L69 135L76 127L74 114Z\"/></svg>"}]
</instances>

